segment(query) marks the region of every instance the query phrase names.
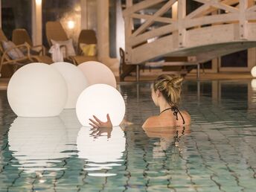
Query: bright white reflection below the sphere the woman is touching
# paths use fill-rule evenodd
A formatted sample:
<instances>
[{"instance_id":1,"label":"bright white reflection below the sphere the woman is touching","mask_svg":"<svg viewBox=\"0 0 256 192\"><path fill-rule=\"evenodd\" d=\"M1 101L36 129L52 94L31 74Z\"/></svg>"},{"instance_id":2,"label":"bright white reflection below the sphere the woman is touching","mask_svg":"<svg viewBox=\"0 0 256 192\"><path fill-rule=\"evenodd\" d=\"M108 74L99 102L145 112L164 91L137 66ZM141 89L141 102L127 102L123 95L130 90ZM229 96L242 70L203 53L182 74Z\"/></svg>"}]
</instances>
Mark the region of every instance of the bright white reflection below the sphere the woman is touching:
<instances>
[{"instance_id":1,"label":"bright white reflection below the sphere the woman is touching","mask_svg":"<svg viewBox=\"0 0 256 192\"><path fill-rule=\"evenodd\" d=\"M82 127L77 135L77 150L79 158L86 160L84 169L89 171L89 176L115 176L117 173L110 170L124 161L125 143L121 127L97 130Z\"/></svg>"}]
</instances>

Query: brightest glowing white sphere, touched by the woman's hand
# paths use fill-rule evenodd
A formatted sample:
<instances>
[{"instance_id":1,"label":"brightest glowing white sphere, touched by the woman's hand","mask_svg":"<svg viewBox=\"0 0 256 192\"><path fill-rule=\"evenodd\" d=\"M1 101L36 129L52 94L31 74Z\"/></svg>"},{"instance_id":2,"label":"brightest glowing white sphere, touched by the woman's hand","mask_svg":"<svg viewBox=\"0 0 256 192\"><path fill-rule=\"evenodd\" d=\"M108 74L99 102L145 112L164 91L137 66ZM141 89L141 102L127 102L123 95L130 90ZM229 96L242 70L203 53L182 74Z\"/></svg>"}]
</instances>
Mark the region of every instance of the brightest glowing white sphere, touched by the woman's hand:
<instances>
[{"instance_id":1,"label":"brightest glowing white sphere, touched by the woman's hand","mask_svg":"<svg viewBox=\"0 0 256 192\"><path fill-rule=\"evenodd\" d=\"M78 97L76 112L80 124L86 127L91 127L89 118L93 118L92 115L106 121L106 114L109 114L113 126L119 126L125 113L124 98L112 86L95 84Z\"/></svg>"}]
</instances>

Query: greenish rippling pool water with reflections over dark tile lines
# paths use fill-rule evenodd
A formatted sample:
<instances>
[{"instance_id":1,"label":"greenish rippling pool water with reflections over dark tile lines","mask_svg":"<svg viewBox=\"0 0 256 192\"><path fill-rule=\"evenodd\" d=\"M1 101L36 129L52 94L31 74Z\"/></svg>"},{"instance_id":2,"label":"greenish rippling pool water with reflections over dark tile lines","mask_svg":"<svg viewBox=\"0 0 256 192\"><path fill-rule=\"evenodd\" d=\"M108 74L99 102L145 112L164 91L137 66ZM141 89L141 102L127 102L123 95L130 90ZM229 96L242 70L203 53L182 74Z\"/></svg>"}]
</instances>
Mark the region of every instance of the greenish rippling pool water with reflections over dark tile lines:
<instances>
[{"instance_id":1,"label":"greenish rippling pool water with reflections over dark tile lines","mask_svg":"<svg viewBox=\"0 0 256 192\"><path fill-rule=\"evenodd\" d=\"M249 80L185 81L190 127L159 114L150 83L121 83L125 127L81 127L73 109L17 118L0 91L0 191L256 191L256 89Z\"/></svg>"}]
</instances>

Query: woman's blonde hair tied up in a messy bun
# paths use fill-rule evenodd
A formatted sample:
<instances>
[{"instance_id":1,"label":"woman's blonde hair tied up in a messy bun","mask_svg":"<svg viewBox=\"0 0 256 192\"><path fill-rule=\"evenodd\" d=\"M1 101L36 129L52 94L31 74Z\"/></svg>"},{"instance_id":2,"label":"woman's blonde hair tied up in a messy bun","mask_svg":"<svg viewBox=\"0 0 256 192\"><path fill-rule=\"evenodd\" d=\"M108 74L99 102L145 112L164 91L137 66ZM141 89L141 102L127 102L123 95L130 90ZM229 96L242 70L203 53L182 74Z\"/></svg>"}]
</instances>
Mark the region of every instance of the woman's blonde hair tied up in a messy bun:
<instances>
[{"instance_id":1,"label":"woman's blonde hair tied up in a messy bun","mask_svg":"<svg viewBox=\"0 0 256 192\"><path fill-rule=\"evenodd\" d=\"M170 105L178 106L182 92L182 77L161 74L156 78L153 89L159 90Z\"/></svg>"}]
</instances>

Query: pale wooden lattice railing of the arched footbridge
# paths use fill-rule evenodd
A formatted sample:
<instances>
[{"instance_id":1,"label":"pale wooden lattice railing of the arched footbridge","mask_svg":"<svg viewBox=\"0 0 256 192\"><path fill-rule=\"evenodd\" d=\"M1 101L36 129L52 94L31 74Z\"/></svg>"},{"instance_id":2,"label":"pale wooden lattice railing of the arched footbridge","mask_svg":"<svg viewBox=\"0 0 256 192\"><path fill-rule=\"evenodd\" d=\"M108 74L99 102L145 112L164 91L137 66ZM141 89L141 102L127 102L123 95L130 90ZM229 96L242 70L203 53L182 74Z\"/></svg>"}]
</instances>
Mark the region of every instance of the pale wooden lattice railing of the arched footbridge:
<instances>
[{"instance_id":1,"label":"pale wooden lattice railing of the arched footbridge","mask_svg":"<svg viewBox=\"0 0 256 192\"><path fill-rule=\"evenodd\" d=\"M125 37L126 37L126 58L127 63L132 63L132 57L146 51L151 54L155 49L167 51L177 51L182 48L191 48L188 41L188 31L198 28L209 28L216 25L237 24L234 29L238 33L236 40L246 41L249 39L249 23L256 21L256 5L253 0L191 0L202 5L191 13L186 13L186 0L144 0L137 4L132 4L132 0L127 0L127 8L124 10ZM152 15L144 14L150 7L157 7L158 10ZM165 17L164 13L172 13L172 16ZM134 19L143 19L137 28ZM161 25L159 25L161 23ZM158 25L156 25L158 24ZM225 31L220 36L228 36ZM169 38L168 38L169 37ZM172 41L170 47L163 48L161 38ZM159 41L159 47L147 50L150 44ZM202 45L207 43L206 39L198 39ZM255 39L256 40L256 39ZM164 39L162 39L164 41ZM150 58L150 57L149 57Z\"/></svg>"}]
</instances>

